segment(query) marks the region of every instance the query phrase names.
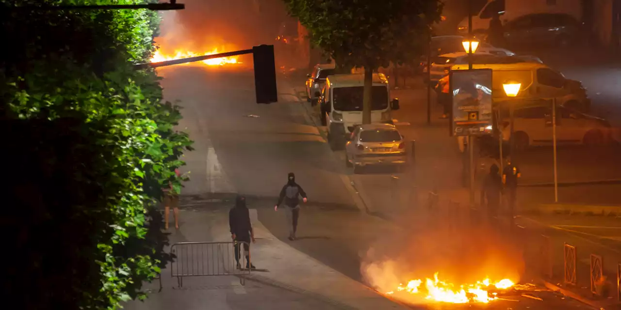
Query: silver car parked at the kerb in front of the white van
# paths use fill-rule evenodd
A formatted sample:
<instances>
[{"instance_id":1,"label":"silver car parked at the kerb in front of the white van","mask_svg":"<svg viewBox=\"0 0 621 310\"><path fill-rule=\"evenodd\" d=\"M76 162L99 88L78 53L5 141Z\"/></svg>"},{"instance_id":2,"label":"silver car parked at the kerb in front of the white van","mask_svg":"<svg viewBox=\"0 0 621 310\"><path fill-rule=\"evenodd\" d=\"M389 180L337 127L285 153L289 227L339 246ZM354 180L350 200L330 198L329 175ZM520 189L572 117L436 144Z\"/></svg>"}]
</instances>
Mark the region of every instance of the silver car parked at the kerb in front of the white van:
<instances>
[{"instance_id":1,"label":"silver car parked at the kerb in front of the white van","mask_svg":"<svg viewBox=\"0 0 621 310\"><path fill-rule=\"evenodd\" d=\"M403 167L407 164L406 153L404 137L396 126L381 123L358 125L345 145L345 164L353 166L355 173L368 165Z\"/></svg>"}]
</instances>

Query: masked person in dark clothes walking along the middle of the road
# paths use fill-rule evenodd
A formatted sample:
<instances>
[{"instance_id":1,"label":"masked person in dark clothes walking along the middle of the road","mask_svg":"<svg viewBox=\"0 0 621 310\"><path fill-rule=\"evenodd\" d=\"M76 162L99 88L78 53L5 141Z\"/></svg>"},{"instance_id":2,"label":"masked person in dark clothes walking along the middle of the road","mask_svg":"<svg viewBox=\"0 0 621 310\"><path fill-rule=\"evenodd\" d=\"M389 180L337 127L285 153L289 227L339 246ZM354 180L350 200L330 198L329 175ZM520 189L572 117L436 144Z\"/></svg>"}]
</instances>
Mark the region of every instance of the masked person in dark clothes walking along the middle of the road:
<instances>
[{"instance_id":1,"label":"masked person in dark clothes walking along the middle of the road","mask_svg":"<svg viewBox=\"0 0 621 310\"><path fill-rule=\"evenodd\" d=\"M297 219L300 216L300 200L306 203L306 192L300 185L296 183L296 175L293 172L289 172L287 184L283 186L278 197L278 202L274 206L274 211L278 211L278 206L283 203L285 205L285 215L287 219L287 226L289 228L289 240L296 240L297 231Z\"/></svg>"}]
</instances>

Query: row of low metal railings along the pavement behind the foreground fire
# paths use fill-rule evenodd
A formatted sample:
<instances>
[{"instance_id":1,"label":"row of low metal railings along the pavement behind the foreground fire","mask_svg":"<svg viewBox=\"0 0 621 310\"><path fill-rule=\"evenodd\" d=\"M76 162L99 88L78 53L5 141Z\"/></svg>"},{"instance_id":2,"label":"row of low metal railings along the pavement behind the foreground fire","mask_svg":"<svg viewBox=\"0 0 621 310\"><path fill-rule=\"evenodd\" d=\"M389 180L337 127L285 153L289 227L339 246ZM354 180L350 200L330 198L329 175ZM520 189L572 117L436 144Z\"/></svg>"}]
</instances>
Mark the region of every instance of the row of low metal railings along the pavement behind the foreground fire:
<instances>
[{"instance_id":1,"label":"row of low metal railings along the pavement behind the foreground fire","mask_svg":"<svg viewBox=\"0 0 621 310\"><path fill-rule=\"evenodd\" d=\"M432 200L433 198L433 200ZM428 204L434 205L432 210L437 215L438 223L451 231L461 228L478 228L487 226L497 234L509 237L508 240L513 242L515 246L522 250L524 261L528 270L537 272L541 278L552 279L554 268L553 252L558 252L558 258L563 255L562 277L565 285L573 286L576 289L586 288L586 281L590 282L590 292L593 296L607 298L609 294L609 286L614 285L606 281L606 270L604 269L604 260L601 255L589 254L587 258L578 259L577 249L570 244L555 244L549 236L543 234L545 229L537 231L537 228L523 227L516 225L510 220L510 216L497 215L495 212L489 212L486 208L468 208L460 203L450 200L441 200L437 197L437 193L433 193L428 198ZM432 203L433 202L433 203ZM427 205L423 202L423 208ZM578 263L588 260L590 257L590 266L586 263ZM559 261L560 263L560 261ZM588 269L587 269L588 268ZM621 301L621 263L618 263L615 270L617 277L617 301ZM579 272L577 272L579 270ZM558 276L561 276L561 270L558 270ZM590 271L590 272L589 272ZM589 273L589 278L586 277ZM609 273L612 273L609 271ZM610 291L614 290L610 288Z\"/></svg>"}]
</instances>

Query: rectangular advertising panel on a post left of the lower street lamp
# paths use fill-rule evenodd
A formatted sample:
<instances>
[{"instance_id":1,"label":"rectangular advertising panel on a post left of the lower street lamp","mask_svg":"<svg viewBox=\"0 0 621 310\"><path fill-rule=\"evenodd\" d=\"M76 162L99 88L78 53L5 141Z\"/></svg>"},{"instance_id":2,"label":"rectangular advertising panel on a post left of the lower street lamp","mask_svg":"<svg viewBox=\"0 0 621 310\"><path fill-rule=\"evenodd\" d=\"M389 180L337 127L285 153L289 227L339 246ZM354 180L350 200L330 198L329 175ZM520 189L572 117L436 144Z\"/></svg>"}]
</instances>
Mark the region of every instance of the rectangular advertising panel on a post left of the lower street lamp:
<instances>
[{"instance_id":1,"label":"rectangular advertising panel on a post left of the lower street lamp","mask_svg":"<svg viewBox=\"0 0 621 310\"><path fill-rule=\"evenodd\" d=\"M452 70L451 136L492 133L492 69Z\"/></svg>"}]
</instances>

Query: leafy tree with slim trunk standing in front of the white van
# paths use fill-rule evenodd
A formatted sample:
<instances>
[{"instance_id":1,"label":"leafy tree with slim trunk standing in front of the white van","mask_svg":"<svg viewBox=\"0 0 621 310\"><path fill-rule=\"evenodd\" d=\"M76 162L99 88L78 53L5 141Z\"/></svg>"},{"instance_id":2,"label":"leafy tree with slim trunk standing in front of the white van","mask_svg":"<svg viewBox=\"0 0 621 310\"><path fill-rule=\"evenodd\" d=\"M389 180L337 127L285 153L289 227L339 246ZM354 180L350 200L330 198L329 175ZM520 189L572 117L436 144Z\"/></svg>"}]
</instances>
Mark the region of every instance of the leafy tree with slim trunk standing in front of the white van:
<instances>
[{"instance_id":1,"label":"leafy tree with slim trunk standing in front of the white van","mask_svg":"<svg viewBox=\"0 0 621 310\"><path fill-rule=\"evenodd\" d=\"M311 42L340 69L364 68L363 123L371 122L373 72L417 59L429 25L440 20L441 0L284 0Z\"/></svg>"}]
</instances>

